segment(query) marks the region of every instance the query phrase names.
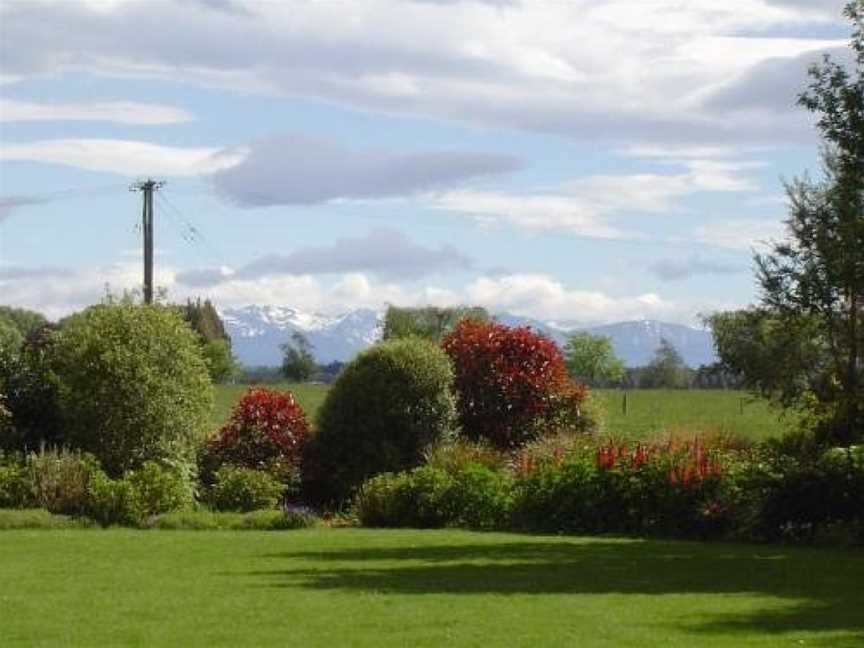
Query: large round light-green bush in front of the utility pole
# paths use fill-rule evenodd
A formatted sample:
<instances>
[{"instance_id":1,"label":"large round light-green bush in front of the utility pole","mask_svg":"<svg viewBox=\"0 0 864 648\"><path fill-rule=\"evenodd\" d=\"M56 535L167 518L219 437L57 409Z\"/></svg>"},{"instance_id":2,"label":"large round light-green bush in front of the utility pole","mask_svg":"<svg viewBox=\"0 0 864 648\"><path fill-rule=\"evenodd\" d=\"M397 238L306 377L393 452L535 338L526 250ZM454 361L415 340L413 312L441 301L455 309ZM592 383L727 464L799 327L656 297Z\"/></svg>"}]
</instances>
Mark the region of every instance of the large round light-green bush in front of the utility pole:
<instances>
[{"instance_id":1,"label":"large round light-green bush in front of the utility pole","mask_svg":"<svg viewBox=\"0 0 864 648\"><path fill-rule=\"evenodd\" d=\"M118 477L146 461L194 461L212 385L175 308L93 306L62 323L50 353L69 445Z\"/></svg>"}]
</instances>

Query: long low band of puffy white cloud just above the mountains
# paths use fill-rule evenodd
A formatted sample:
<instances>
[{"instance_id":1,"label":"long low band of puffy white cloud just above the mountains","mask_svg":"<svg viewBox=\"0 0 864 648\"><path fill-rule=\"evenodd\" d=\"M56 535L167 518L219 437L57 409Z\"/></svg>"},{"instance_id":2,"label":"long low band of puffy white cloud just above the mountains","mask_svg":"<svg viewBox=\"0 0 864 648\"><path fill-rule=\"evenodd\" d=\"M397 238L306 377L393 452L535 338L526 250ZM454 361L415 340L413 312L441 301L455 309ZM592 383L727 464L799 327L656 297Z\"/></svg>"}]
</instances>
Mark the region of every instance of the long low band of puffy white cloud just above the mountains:
<instances>
[{"instance_id":1,"label":"long low band of puffy white cloud just above the mountains","mask_svg":"<svg viewBox=\"0 0 864 648\"><path fill-rule=\"evenodd\" d=\"M671 301L655 293L610 295L569 286L543 274L478 276L460 289L381 281L356 272L329 280L310 275L229 279L207 289L190 289L178 283L177 276L176 269L157 266L155 283L167 289L173 301L206 296L219 307L274 304L321 313L379 309L386 304L477 304L494 312L586 324L639 318L691 323L697 313L719 307L716 303ZM32 308L55 319L98 303L106 284L119 293L137 288L140 281L141 269L134 263L84 270L15 268L14 272L0 272L4 303Z\"/></svg>"}]
</instances>

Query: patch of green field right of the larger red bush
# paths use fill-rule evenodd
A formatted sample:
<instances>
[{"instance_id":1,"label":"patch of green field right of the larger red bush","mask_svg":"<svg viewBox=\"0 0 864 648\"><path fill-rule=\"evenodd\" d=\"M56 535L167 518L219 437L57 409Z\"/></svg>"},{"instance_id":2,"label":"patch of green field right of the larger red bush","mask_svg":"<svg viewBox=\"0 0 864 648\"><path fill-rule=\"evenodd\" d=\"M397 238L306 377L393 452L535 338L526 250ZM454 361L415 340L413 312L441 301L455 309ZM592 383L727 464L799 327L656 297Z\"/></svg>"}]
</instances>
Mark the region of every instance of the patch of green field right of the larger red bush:
<instances>
[{"instance_id":1,"label":"patch of green field right of the larger red bush","mask_svg":"<svg viewBox=\"0 0 864 648\"><path fill-rule=\"evenodd\" d=\"M631 439L664 433L734 434L759 441L782 435L795 426L794 415L746 392L725 390L645 389L592 392L605 411L604 432Z\"/></svg>"}]
</instances>

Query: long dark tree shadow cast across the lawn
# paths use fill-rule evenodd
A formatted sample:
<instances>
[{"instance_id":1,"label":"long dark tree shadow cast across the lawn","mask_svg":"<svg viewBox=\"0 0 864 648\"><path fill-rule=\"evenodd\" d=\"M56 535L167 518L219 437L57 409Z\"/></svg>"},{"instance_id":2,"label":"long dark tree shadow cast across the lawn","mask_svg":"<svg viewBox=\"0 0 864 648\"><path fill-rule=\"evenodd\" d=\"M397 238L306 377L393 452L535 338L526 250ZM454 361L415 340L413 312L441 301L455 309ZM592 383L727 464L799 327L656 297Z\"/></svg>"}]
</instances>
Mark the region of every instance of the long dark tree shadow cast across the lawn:
<instances>
[{"instance_id":1,"label":"long dark tree shadow cast across the lawn","mask_svg":"<svg viewBox=\"0 0 864 648\"><path fill-rule=\"evenodd\" d=\"M851 633L864 645L864 554L801 548L548 538L506 544L372 547L266 556L296 569L249 575L275 586L411 594L744 594L782 609L712 615L722 634ZM310 568L309 562L318 563ZM794 599L794 602L792 601ZM826 638L827 639L827 638Z\"/></svg>"}]
</instances>

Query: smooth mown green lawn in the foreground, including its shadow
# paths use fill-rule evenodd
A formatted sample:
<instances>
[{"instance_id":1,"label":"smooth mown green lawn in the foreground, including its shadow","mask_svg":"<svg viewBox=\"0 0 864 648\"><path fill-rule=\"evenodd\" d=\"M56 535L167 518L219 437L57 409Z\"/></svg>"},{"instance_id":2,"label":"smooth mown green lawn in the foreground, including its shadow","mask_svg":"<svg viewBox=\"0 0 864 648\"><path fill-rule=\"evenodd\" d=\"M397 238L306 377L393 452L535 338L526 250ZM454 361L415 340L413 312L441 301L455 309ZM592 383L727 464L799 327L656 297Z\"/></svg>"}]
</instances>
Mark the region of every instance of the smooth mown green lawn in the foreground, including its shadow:
<instances>
[{"instance_id":1,"label":"smooth mown green lawn in the foreground, including its shadow","mask_svg":"<svg viewBox=\"0 0 864 648\"><path fill-rule=\"evenodd\" d=\"M462 531L0 533L0 643L864 645L864 554Z\"/></svg>"}]
</instances>

